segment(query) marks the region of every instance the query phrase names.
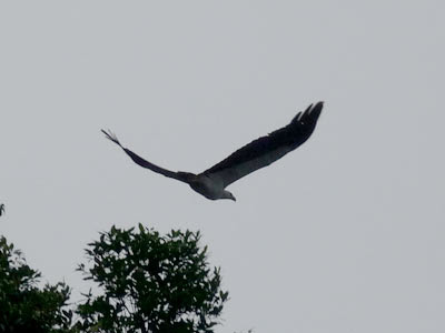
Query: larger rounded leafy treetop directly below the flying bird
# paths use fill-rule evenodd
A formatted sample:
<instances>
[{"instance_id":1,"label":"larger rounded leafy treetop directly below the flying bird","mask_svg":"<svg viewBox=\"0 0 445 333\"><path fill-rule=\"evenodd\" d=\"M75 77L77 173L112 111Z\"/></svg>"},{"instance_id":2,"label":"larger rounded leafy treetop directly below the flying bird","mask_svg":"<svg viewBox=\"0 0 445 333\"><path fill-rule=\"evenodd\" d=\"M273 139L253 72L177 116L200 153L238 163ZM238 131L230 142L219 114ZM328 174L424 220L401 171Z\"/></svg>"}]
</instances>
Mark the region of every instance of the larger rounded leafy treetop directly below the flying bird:
<instances>
[{"instance_id":1,"label":"larger rounded leafy treetop directly below the flying bird","mask_svg":"<svg viewBox=\"0 0 445 333\"><path fill-rule=\"evenodd\" d=\"M91 266L86 280L100 286L78 307L78 329L86 332L211 333L228 293L219 269L210 270L199 232L171 231L161 236L139 224L115 226L86 250Z\"/></svg>"}]
</instances>

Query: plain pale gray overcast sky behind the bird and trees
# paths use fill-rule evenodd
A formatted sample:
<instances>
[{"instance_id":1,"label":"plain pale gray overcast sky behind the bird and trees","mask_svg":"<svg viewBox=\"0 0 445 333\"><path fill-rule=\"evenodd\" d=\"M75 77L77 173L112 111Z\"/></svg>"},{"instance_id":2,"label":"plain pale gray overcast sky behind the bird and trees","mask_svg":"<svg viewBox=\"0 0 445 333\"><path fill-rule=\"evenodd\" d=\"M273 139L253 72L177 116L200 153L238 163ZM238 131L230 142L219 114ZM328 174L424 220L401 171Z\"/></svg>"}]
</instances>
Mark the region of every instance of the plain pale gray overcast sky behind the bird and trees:
<instances>
[{"instance_id":1,"label":"plain pale gray overcast sky behind the bird and trees","mask_svg":"<svg viewBox=\"0 0 445 333\"><path fill-rule=\"evenodd\" d=\"M112 224L200 230L219 332L444 332L443 1L2 1L0 232L46 279ZM199 172L326 102L207 201Z\"/></svg>"}]
</instances>

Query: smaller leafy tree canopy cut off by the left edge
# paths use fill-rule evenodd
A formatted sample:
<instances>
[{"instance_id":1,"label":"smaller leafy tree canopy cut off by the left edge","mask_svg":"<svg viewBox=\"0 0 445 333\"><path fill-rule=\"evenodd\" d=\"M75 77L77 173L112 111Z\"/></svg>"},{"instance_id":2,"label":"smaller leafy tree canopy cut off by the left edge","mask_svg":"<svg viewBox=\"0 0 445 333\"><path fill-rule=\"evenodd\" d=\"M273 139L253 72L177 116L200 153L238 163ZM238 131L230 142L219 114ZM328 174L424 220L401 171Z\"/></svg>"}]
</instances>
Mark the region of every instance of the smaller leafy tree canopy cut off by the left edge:
<instances>
[{"instance_id":1,"label":"smaller leafy tree canopy cut off by the left edge","mask_svg":"<svg viewBox=\"0 0 445 333\"><path fill-rule=\"evenodd\" d=\"M65 283L39 289L40 273L0 236L0 332L68 332L72 313L66 310L70 290Z\"/></svg>"}]
</instances>

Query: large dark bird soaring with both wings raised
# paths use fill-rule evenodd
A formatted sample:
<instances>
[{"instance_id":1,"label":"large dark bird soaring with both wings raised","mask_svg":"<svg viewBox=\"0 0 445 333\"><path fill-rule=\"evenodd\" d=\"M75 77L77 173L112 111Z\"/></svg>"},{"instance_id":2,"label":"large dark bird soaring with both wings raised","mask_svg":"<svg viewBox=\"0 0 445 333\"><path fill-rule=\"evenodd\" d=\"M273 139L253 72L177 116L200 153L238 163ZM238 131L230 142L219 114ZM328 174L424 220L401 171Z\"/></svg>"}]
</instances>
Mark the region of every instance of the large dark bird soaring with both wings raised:
<instances>
[{"instance_id":1,"label":"large dark bird soaring with both wings raised","mask_svg":"<svg viewBox=\"0 0 445 333\"><path fill-rule=\"evenodd\" d=\"M236 201L234 194L226 188L243 176L274 163L303 144L314 132L322 109L323 102L315 105L310 104L304 112L298 112L288 125L251 141L227 159L198 174L184 171L175 172L160 168L121 145L111 131L101 131L109 140L123 149L131 160L140 167L185 182L207 199Z\"/></svg>"}]
</instances>

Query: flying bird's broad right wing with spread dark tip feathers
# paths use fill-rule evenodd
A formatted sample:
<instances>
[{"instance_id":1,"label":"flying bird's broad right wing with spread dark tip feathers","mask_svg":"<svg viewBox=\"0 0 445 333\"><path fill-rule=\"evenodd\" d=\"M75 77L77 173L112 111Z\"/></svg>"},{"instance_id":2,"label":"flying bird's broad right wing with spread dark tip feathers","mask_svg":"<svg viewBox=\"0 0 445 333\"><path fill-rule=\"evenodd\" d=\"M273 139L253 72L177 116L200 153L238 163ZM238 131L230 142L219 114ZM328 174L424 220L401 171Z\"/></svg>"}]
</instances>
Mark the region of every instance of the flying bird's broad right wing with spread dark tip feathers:
<instances>
[{"instance_id":1,"label":"flying bird's broad right wing with spread dark tip feathers","mask_svg":"<svg viewBox=\"0 0 445 333\"><path fill-rule=\"evenodd\" d=\"M269 165L303 144L314 132L323 102L310 104L299 112L293 121L270 134L259 138L234 152L227 159L202 172L215 180L231 184L238 179Z\"/></svg>"}]
</instances>

